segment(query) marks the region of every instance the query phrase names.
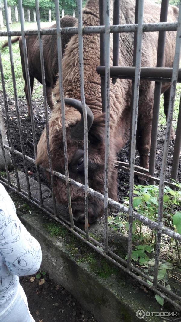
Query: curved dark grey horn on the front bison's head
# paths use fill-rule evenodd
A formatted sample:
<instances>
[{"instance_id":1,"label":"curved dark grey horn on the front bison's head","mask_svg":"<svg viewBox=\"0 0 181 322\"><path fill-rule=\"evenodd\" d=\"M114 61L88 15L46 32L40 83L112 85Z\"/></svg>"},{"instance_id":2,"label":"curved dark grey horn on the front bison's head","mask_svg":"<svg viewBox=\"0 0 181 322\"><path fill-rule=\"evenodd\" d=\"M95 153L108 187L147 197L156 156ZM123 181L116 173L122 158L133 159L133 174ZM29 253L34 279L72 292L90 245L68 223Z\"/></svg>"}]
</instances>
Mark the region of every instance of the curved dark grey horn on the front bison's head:
<instances>
[{"instance_id":1,"label":"curved dark grey horn on the front bison's head","mask_svg":"<svg viewBox=\"0 0 181 322\"><path fill-rule=\"evenodd\" d=\"M84 118L83 118L82 102L79 101L78 99L68 99L68 98L65 98L64 101L65 101L65 104L73 106L81 114L81 120L72 128L71 136L73 140L83 140L84 139ZM89 131L94 121L94 115L90 107L88 107L88 105L86 105L86 112L87 112L87 128Z\"/></svg>"}]
</instances>

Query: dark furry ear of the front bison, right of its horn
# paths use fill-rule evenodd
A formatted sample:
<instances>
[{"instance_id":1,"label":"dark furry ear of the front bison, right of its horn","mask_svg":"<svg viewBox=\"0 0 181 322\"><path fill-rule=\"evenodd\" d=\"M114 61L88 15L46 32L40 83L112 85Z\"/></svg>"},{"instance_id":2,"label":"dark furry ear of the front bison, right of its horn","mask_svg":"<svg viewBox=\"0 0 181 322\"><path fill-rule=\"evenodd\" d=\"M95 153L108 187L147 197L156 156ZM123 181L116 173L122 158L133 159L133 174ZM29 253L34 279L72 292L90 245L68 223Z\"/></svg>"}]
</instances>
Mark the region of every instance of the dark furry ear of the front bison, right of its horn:
<instances>
[{"instance_id":1,"label":"dark furry ear of the front bison, right of its horn","mask_svg":"<svg viewBox=\"0 0 181 322\"><path fill-rule=\"evenodd\" d=\"M105 113L94 117L94 122L88 132L88 140L92 144L103 143L105 140Z\"/></svg>"}]
</instances>

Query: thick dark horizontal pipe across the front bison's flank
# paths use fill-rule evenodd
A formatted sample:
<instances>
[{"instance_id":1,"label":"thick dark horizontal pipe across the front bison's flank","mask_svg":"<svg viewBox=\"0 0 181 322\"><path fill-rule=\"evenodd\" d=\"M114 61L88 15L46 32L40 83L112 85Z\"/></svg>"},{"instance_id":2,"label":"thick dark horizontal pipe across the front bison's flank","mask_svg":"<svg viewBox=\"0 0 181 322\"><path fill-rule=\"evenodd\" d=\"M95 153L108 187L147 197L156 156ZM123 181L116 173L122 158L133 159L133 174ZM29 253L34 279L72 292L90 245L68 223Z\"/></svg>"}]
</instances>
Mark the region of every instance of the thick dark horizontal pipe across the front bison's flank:
<instances>
[{"instance_id":1,"label":"thick dark horizontal pipe across the front bison's flank","mask_svg":"<svg viewBox=\"0 0 181 322\"><path fill-rule=\"evenodd\" d=\"M105 66L96 68L100 76L105 75ZM167 67L141 67L140 78L151 81L170 81L172 79L173 68ZM110 67L110 77L134 79L135 67ZM178 69L177 82L181 82L181 68Z\"/></svg>"}]
</instances>

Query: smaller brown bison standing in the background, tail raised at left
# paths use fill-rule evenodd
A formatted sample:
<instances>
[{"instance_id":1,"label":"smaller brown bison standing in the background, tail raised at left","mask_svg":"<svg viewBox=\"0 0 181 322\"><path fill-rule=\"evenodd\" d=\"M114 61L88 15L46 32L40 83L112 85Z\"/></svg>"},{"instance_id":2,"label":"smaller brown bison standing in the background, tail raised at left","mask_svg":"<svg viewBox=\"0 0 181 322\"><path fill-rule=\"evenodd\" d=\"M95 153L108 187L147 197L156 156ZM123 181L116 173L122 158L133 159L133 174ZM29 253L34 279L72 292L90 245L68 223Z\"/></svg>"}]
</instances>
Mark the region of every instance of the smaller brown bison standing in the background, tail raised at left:
<instances>
[{"instance_id":1,"label":"smaller brown bison standing in the background, tail raised at left","mask_svg":"<svg viewBox=\"0 0 181 322\"><path fill-rule=\"evenodd\" d=\"M76 18L68 15L60 19L61 28L73 27L76 24L76 22L77 22ZM48 29L48 28L56 28L56 24L53 24L52 26L44 29ZM72 37L71 33L63 34L61 36L62 55L71 37ZM27 54L28 54L30 85L31 85L31 91L33 91L35 78L37 79L37 81L39 81L42 84L39 40L38 40L38 36L25 36L25 38L26 38L26 48L27 48ZM50 109L53 109L54 101L52 99L52 89L57 81L57 77L58 77L57 74L59 72L58 56L57 56L57 35L42 36L41 39L43 43L47 103L50 106ZM17 42L18 40L19 40L19 47L20 47L23 78L25 81L24 91L25 91L26 102L28 106L28 116L30 117L30 106L29 106L29 100L28 100L28 88L27 88L27 81L26 81L22 37L21 36L15 37L14 39L12 39L12 43ZM2 48L6 47L7 45L8 45L8 42L4 43Z\"/></svg>"}]
</instances>

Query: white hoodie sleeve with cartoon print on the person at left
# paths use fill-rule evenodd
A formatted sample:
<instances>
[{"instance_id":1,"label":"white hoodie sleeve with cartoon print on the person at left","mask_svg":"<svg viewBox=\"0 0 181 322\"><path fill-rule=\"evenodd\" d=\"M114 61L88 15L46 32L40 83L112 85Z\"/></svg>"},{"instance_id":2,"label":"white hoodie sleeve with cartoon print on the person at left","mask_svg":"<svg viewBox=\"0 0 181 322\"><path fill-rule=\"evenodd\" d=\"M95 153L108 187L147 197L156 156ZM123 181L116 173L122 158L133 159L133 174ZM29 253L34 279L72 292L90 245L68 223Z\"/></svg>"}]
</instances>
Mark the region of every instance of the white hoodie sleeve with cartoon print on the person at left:
<instances>
[{"instance_id":1,"label":"white hoodie sleeve with cartoon print on the person at left","mask_svg":"<svg viewBox=\"0 0 181 322\"><path fill-rule=\"evenodd\" d=\"M39 242L19 220L14 203L1 184L0 256L9 271L18 276L36 273L42 259Z\"/></svg>"}]
</instances>

